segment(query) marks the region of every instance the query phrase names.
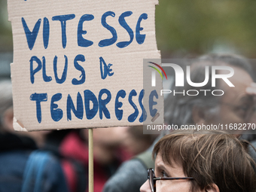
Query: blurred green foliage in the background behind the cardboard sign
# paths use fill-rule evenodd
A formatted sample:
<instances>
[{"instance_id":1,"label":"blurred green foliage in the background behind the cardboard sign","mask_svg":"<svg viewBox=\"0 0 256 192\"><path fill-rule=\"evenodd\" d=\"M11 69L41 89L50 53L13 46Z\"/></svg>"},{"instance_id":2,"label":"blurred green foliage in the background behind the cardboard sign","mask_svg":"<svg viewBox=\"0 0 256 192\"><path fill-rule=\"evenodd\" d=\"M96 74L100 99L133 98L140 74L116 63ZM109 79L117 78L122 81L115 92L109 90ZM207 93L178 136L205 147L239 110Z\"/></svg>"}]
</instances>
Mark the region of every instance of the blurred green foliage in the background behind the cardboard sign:
<instances>
[{"instance_id":1,"label":"blurred green foliage in the background behind the cardboard sign","mask_svg":"<svg viewBox=\"0 0 256 192\"><path fill-rule=\"evenodd\" d=\"M256 1L159 0L156 34L163 58L224 51L252 59L256 56ZM11 51L7 0L0 0L0 52Z\"/></svg>"}]
</instances>

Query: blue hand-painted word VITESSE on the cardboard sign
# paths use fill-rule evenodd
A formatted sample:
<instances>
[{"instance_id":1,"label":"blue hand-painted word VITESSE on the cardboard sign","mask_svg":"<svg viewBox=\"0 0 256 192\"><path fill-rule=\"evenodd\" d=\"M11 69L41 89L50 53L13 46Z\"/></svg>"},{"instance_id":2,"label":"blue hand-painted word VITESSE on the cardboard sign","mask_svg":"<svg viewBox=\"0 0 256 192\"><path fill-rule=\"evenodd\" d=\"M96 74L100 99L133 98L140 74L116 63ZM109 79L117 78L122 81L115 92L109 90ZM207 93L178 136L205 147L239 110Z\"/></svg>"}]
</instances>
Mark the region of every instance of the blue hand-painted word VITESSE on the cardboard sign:
<instances>
[{"instance_id":1,"label":"blue hand-painted word VITESSE on the cardboard sign","mask_svg":"<svg viewBox=\"0 0 256 192\"><path fill-rule=\"evenodd\" d=\"M129 41L120 41L116 45L119 48L127 47L129 44L133 42L134 38L134 32L133 29L130 28L128 23L126 23L125 17L130 17L133 14L132 11L125 11L123 14L120 14L118 18L118 22L120 23L120 26L122 26L124 29L126 29L126 32L128 32L130 36ZM110 46L111 44L114 44L117 41L117 32L114 29L113 26L108 25L106 22L107 17L115 17L115 14L113 11L107 11L104 14L102 14L101 18L101 23L102 26L105 27L105 29L108 29L109 32L111 32L112 37L108 39L102 39L99 41L99 47L106 47ZM62 47L66 48L67 44L67 37L66 37L66 23L68 20L73 20L75 18L75 14L66 14L66 15L58 15L52 17L53 21L59 21L61 24L61 29L62 29ZM87 34L87 31L83 29L83 24L85 21L91 21L94 19L93 14L84 14L79 22L78 22L78 46L80 47L90 47L93 45L93 41L90 41L86 38L83 37L83 35ZM136 23L136 41L138 44L143 44L145 41L145 34L142 35L140 32L143 30L141 27L141 22L142 20L147 20L148 19L148 14L141 14L139 16L139 19L137 20ZM32 48L35 45L35 40L38 36L38 32L41 26L41 19L38 19L38 21L35 23L34 28L32 31L29 29L27 26L26 20L22 17L21 18L22 24L23 24L23 29L24 32L26 33L26 40L29 46L29 49L32 50ZM44 41L44 48L47 49L48 43L49 43L49 36L50 36L50 23L47 17L44 17L43 21L43 41Z\"/></svg>"}]
</instances>

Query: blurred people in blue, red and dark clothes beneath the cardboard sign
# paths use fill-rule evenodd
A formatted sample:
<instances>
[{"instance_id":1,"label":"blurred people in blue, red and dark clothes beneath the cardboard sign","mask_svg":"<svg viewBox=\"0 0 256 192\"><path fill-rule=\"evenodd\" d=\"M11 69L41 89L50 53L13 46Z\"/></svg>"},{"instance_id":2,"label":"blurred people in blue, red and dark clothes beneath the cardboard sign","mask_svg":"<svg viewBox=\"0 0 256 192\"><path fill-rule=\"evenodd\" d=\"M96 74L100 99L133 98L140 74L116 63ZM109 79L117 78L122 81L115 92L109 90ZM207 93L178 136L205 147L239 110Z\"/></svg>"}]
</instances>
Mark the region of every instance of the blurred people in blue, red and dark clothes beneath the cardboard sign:
<instances>
[{"instance_id":1,"label":"blurred people in blue, red and dark clothes beneath the cardboard sign","mask_svg":"<svg viewBox=\"0 0 256 192\"><path fill-rule=\"evenodd\" d=\"M41 191L88 190L88 130L15 132L11 80L0 82L0 117L0 191L24 191L22 189L27 187L24 186L24 172L28 167L33 169L29 166L29 159L41 156L48 156L44 172L41 173L48 185ZM145 151L155 137L143 135L142 126L95 129L94 191L102 191L105 181L114 174L120 163ZM33 151L41 154L34 157ZM48 166L52 161L55 165ZM56 168L58 165L59 169ZM47 178L49 174L51 177L55 174L54 178ZM29 176L27 178L30 179ZM44 181L40 183L44 184ZM29 180L29 187L35 184L35 178Z\"/></svg>"}]
</instances>

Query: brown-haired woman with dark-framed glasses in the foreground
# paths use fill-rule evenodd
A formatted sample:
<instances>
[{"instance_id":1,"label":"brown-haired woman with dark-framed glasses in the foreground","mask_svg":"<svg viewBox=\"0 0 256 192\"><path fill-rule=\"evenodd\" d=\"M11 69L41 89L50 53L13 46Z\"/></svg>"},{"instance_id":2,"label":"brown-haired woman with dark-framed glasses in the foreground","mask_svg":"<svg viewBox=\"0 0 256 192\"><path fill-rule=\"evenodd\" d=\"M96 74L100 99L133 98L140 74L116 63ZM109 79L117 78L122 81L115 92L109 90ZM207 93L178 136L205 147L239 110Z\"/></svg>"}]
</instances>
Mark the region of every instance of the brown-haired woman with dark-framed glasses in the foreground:
<instances>
[{"instance_id":1,"label":"brown-haired woman with dark-framed glasses in the foreground","mask_svg":"<svg viewBox=\"0 0 256 192\"><path fill-rule=\"evenodd\" d=\"M141 192L256 191L256 164L248 142L212 132L174 133L154 146L155 169Z\"/></svg>"}]
</instances>

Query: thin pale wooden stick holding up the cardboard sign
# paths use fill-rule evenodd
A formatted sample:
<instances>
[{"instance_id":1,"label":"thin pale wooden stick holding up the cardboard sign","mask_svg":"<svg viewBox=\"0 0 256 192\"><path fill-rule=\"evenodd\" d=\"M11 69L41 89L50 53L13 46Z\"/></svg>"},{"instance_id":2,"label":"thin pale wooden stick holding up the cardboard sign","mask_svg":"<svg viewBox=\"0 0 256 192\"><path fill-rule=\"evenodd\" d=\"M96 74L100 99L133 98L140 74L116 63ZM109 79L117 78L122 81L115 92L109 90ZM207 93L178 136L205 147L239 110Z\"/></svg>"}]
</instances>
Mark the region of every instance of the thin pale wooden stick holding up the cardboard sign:
<instances>
[{"instance_id":1,"label":"thin pale wooden stick holding up the cardboard sign","mask_svg":"<svg viewBox=\"0 0 256 192\"><path fill-rule=\"evenodd\" d=\"M89 192L93 192L93 129L88 130L89 141Z\"/></svg>"}]
</instances>

